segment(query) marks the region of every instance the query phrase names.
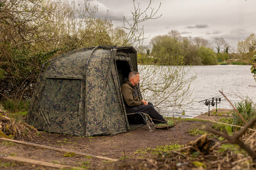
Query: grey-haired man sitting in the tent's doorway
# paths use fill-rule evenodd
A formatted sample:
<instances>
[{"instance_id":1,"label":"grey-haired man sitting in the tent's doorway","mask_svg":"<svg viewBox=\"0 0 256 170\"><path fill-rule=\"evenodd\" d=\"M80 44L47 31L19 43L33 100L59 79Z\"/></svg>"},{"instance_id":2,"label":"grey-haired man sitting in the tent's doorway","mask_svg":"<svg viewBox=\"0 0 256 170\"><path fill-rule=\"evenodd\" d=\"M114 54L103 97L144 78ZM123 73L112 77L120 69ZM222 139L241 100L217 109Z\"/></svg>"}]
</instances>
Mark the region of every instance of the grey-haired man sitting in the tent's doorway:
<instances>
[{"instance_id":1,"label":"grey-haired man sitting in the tent's doorway","mask_svg":"<svg viewBox=\"0 0 256 170\"><path fill-rule=\"evenodd\" d=\"M155 110L152 103L139 99L138 92L135 87L139 81L139 73L132 71L128 75L128 80L124 80L124 84L122 84L121 90L126 113L144 112L152 118L154 123L167 123L165 118Z\"/></svg>"}]
</instances>

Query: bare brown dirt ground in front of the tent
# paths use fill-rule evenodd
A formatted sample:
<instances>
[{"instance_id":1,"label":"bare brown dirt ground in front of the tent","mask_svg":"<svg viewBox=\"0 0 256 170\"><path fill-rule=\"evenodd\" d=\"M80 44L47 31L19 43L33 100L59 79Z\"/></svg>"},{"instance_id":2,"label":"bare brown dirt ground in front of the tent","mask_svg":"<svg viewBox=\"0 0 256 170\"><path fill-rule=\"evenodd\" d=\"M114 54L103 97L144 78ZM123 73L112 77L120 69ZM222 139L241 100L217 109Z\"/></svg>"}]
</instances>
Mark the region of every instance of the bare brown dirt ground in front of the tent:
<instances>
[{"instance_id":1,"label":"bare brown dirt ground in front of the tent","mask_svg":"<svg viewBox=\"0 0 256 170\"><path fill-rule=\"evenodd\" d=\"M205 117L205 115L203 116ZM207 117L205 119L207 119ZM172 118L170 118L170 120L172 120ZM26 158L68 165L69 167L98 170L102 165L111 162L108 158L115 160L122 158L135 159L141 157L142 153L138 151L140 149L156 148L157 146L170 144L186 145L189 141L196 140L200 136L190 135L189 130L200 130L203 125L211 127L213 123L201 120L176 120L176 124L177 126L169 130L156 130L153 128L153 131L150 131L148 127L144 125L133 131L112 136L77 137L39 131L40 135L34 135L31 139L16 139L59 149L78 151L90 156L79 154L72 155L72 153L68 155L67 151L56 151L0 139L0 167L8 170L56 169L3 159L4 156L11 155L18 158L21 157L21 159ZM103 159L97 157L102 157Z\"/></svg>"}]
</instances>

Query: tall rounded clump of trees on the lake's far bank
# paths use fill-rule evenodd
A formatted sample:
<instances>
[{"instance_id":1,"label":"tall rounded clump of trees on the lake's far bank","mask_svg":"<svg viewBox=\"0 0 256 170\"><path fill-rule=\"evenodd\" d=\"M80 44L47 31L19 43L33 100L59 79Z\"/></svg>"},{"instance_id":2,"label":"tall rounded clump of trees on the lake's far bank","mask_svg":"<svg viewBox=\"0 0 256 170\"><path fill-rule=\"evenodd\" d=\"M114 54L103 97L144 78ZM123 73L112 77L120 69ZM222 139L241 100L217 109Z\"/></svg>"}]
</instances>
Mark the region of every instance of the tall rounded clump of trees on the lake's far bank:
<instances>
[{"instance_id":1,"label":"tall rounded clump of trees on the lake's far bank","mask_svg":"<svg viewBox=\"0 0 256 170\"><path fill-rule=\"evenodd\" d=\"M150 41L152 56L161 64L177 63L177 59L184 64L212 65L217 64L216 52L209 48L209 42L202 38L183 38L177 30L159 35Z\"/></svg>"}]
</instances>

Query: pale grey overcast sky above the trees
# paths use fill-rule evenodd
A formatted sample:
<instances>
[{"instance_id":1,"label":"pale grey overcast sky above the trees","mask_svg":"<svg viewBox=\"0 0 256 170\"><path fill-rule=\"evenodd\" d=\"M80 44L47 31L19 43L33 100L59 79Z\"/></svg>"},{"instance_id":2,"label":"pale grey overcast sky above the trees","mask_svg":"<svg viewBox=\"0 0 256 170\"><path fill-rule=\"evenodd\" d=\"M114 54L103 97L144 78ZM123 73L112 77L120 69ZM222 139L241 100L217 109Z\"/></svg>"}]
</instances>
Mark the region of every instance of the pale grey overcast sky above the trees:
<instances>
[{"instance_id":1,"label":"pale grey overcast sky above the trees","mask_svg":"<svg viewBox=\"0 0 256 170\"><path fill-rule=\"evenodd\" d=\"M77 0L83 3L83 0ZM98 5L97 17L106 17L114 24L122 25L122 18L132 16L133 0L89 0L90 5ZM144 10L149 0L136 0ZM256 33L256 0L152 0L152 8L157 9L156 20L144 23L145 36L150 39L165 35L170 30L178 30L182 37L200 37L213 40L223 37L231 46Z\"/></svg>"}]
</instances>

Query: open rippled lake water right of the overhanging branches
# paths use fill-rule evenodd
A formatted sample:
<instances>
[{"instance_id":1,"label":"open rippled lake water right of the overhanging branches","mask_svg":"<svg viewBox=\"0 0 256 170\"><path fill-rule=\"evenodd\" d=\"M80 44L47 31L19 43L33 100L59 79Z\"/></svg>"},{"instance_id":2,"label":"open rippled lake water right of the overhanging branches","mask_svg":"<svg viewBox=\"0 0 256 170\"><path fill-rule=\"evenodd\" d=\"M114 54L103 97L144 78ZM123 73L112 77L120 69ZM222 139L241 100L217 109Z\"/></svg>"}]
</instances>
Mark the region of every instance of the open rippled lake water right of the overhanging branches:
<instances>
[{"instance_id":1,"label":"open rippled lake water right of the overhanging branches","mask_svg":"<svg viewBox=\"0 0 256 170\"><path fill-rule=\"evenodd\" d=\"M165 117L193 118L201 113L208 112L209 108L201 100L218 96L221 102L218 108L231 109L231 104L222 96L223 91L227 98L237 103L246 97L256 103L256 81L250 71L250 65L214 65L214 66L193 66L197 79L191 83L194 88L191 99L193 103L186 108L185 115L178 108L168 108L161 114ZM210 106L210 110L216 109L216 104Z\"/></svg>"}]
</instances>

